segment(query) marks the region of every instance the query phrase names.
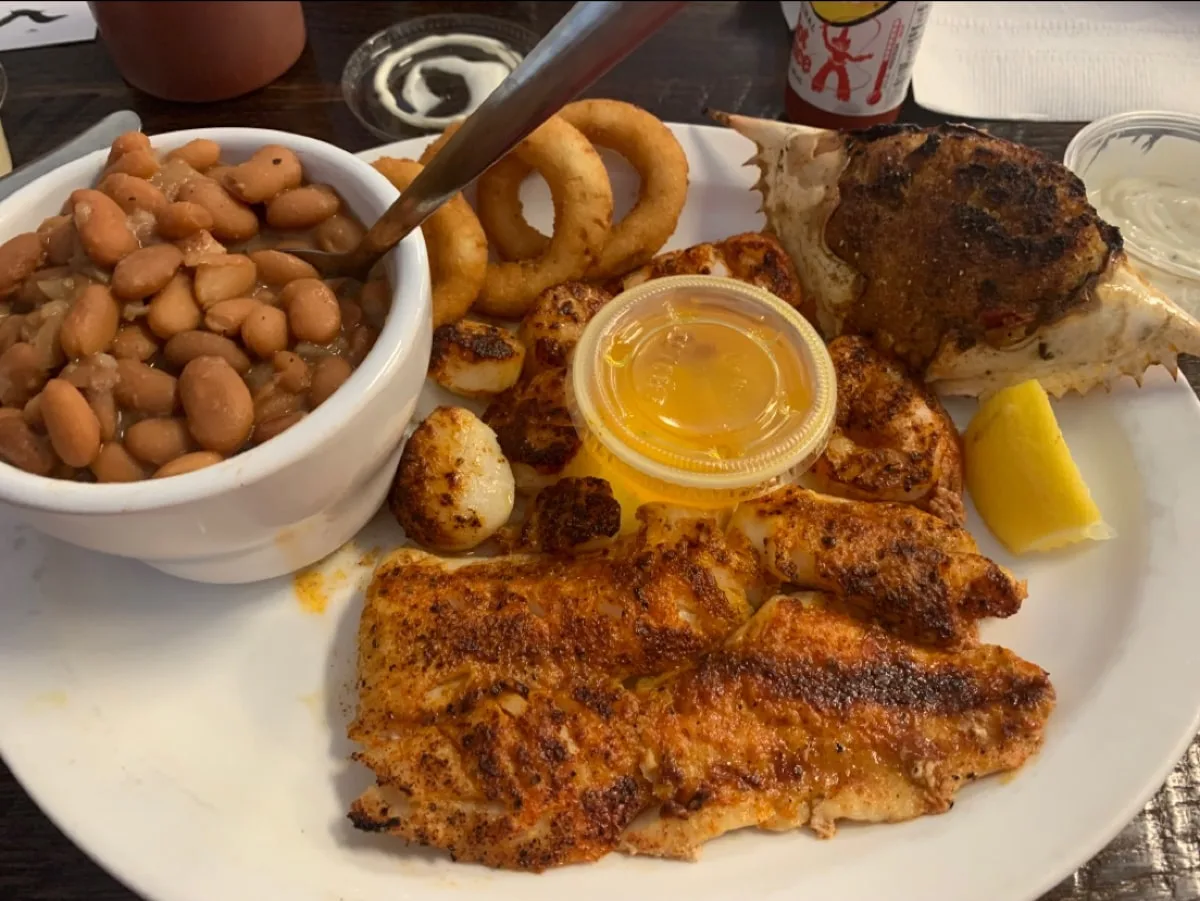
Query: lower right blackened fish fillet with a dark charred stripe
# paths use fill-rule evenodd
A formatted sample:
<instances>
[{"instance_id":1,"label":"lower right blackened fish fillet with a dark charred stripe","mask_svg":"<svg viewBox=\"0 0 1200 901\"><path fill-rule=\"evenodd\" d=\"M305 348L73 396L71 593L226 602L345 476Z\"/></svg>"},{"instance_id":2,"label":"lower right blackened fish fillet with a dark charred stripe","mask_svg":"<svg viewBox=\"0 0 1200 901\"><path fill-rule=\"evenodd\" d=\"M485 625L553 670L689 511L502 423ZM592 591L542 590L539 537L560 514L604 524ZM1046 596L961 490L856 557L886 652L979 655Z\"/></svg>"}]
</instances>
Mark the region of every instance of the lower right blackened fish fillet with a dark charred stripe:
<instances>
[{"instance_id":1,"label":"lower right blackened fish fillet with a dark charred stripe","mask_svg":"<svg viewBox=\"0 0 1200 901\"><path fill-rule=\"evenodd\" d=\"M656 809L623 851L694 859L744 827L898 822L948 811L959 788L1020 767L1055 693L1004 648L914 648L823 608L769 600L719 651L642 698Z\"/></svg>"}]
</instances>

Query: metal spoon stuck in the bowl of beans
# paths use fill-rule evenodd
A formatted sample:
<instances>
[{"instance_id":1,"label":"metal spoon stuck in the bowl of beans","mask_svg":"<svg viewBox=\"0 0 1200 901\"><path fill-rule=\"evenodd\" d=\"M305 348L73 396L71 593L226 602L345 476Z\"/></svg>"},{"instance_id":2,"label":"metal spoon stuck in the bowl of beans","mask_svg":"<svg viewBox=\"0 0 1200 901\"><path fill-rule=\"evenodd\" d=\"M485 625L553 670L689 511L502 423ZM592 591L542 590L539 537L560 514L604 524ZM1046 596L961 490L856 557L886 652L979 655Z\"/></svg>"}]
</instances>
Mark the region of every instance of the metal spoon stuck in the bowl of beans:
<instances>
[{"instance_id":1,"label":"metal spoon stuck in the bowl of beans","mask_svg":"<svg viewBox=\"0 0 1200 901\"><path fill-rule=\"evenodd\" d=\"M434 210L616 66L684 2L578 2L476 109L348 253L289 251L328 278L364 280Z\"/></svg>"}]
</instances>

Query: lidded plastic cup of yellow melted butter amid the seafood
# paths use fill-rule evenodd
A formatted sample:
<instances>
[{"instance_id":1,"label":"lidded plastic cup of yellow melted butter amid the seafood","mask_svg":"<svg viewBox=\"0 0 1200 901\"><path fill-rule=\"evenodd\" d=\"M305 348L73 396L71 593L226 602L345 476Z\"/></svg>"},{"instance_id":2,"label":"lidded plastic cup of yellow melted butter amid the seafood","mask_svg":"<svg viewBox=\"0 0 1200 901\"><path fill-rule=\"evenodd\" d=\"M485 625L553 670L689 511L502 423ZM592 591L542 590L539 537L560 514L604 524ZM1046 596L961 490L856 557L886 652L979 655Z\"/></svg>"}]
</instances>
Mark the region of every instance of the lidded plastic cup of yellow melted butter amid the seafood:
<instances>
[{"instance_id":1,"label":"lidded plastic cup of yellow melted butter amid the seafood","mask_svg":"<svg viewBox=\"0 0 1200 901\"><path fill-rule=\"evenodd\" d=\"M614 492L727 507L812 465L836 384L824 342L784 301L677 276L625 292L588 324L569 401L589 474Z\"/></svg>"}]
</instances>

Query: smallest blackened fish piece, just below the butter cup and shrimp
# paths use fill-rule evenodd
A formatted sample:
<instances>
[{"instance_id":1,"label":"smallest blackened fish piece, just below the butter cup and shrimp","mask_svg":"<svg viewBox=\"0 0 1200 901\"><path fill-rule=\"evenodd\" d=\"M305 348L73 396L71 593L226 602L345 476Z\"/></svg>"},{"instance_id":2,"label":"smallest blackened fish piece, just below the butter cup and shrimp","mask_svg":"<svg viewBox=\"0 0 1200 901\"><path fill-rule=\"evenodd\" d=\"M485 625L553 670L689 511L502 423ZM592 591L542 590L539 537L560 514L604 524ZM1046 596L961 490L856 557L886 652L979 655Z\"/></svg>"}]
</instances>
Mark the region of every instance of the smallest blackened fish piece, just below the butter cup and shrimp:
<instances>
[{"instance_id":1,"label":"smallest blackened fish piece, just below the butter cup and shrimp","mask_svg":"<svg viewBox=\"0 0 1200 901\"><path fill-rule=\"evenodd\" d=\"M836 594L848 609L941 648L978 641L977 620L1010 617L1025 582L979 554L965 529L906 504L794 486L742 504L730 523L780 582Z\"/></svg>"}]
</instances>

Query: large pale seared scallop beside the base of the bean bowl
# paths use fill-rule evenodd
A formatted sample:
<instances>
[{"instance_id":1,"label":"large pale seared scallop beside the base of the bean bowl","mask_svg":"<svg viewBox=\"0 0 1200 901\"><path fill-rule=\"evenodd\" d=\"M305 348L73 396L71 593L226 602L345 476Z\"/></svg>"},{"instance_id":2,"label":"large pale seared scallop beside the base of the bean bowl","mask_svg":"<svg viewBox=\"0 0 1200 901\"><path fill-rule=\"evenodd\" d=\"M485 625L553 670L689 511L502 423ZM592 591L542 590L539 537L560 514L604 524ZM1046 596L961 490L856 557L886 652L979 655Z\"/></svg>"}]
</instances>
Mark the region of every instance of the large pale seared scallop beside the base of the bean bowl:
<instances>
[{"instance_id":1,"label":"large pale seared scallop beside the base of the bean bowl","mask_svg":"<svg viewBox=\"0 0 1200 901\"><path fill-rule=\"evenodd\" d=\"M419 545L469 551L508 522L515 493L496 433L470 410L438 407L404 445L388 506Z\"/></svg>"}]
</instances>

